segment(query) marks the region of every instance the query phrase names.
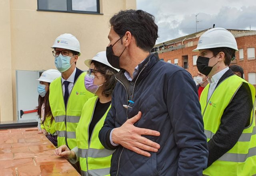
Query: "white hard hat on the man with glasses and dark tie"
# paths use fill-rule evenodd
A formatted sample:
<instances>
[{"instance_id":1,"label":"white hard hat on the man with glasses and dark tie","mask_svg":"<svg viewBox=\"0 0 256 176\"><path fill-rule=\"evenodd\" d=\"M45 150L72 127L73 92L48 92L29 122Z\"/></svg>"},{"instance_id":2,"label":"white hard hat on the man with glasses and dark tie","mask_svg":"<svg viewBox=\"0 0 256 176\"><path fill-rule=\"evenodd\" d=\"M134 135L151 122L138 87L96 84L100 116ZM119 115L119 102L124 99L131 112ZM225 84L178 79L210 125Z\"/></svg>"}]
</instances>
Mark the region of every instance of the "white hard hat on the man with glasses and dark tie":
<instances>
[{"instance_id":1,"label":"white hard hat on the man with glasses and dark tie","mask_svg":"<svg viewBox=\"0 0 256 176\"><path fill-rule=\"evenodd\" d=\"M80 43L76 37L70 33L64 33L58 36L51 48L64 48L80 53Z\"/></svg>"}]
</instances>

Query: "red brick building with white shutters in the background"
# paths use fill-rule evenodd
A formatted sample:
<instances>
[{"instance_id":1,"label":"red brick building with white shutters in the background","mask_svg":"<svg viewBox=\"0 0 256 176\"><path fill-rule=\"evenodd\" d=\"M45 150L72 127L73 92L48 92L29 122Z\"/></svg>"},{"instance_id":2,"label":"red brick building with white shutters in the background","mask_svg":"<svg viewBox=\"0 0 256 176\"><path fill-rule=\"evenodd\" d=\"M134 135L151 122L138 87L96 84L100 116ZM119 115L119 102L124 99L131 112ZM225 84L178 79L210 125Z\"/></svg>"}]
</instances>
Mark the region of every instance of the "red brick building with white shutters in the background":
<instances>
[{"instance_id":1,"label":"red brick building with white shutters in the background","mask_svg":"<svg viewBox=\"0 0 256 176\"><path fill-rule=\"evenodd\" d=\"M208 29L192 33L177 39L159 43L154 46L152 52L158 52L159 58L165 62L179 65L193 76L196 80L198 69L196 60L198 52L192 52L196 48L199 37ZM242 66L244 79L256 86L256 31L228 29L236 38L239 51L236 59L231 62Z\"/></svg>"}]
</instances>

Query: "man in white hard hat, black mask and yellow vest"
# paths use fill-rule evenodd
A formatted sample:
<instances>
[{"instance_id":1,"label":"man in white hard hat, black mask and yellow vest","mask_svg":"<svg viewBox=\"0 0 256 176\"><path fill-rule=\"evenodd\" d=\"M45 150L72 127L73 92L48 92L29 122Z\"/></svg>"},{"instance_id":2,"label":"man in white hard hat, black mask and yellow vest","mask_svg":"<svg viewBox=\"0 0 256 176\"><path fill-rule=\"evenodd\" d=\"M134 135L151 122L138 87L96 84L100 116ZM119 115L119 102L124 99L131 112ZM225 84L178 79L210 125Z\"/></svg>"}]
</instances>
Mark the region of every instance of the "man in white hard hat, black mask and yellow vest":
<instances>
[{"instance_id":1,"label":"man in white hard hat, black mask and yellow vest","mask_svg":"<svg viewBox=\"0 0 256 176\"><path fill-rule=\"evenodd\" d=\"M198 41L198 71L208 76L200 97L208 164L203 174L256 174L255 88L228 68L238 51L228 30L213 28Z\"/></svg>"}]
</instances>

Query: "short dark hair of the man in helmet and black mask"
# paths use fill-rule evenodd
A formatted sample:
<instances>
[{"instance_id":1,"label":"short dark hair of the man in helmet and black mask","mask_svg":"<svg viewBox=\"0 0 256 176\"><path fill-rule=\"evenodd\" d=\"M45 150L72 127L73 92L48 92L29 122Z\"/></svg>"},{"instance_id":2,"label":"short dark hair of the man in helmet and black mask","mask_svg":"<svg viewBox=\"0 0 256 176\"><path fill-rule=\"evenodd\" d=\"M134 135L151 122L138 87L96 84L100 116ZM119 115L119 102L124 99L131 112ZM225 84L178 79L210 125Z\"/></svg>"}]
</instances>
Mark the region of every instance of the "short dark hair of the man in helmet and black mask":
<instances>
[{"instance_id":1,"label":"short dark hair of the man in helmet and black mask","mask_svg":"<svg viewBox=\"0 0 256 176\"><path fill-rule=\"evenodd\" d=\"M223 52L225 54L224 56L224 64L229 66L231 63L231 60L233 57L236 57L235 53L236 50L228 47L218 47L218 48L210 48L210 51L212 51L213 55L216 56L218 53Z\"/></svg>"}]
</instances>

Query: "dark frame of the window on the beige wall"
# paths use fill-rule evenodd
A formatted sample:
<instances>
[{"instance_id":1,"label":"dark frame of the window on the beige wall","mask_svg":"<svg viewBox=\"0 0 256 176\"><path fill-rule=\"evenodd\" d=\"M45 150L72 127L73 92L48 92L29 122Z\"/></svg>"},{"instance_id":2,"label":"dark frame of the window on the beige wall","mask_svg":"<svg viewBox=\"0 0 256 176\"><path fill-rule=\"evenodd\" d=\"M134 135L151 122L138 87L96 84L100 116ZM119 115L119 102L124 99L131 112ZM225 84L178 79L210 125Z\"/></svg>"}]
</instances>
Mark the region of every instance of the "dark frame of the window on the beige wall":
<instances>
[{"instance_id":1,"label":"dark frame of the window on the beige wall","mask_svg":"<svg viewBox=\"0 0 256 176\"><path fill-rule=\"evenodd\" d=\"M66 12L66 13L76 13L76 14L96 14L103 15L100 13L100 0L96 0L97 11L80 11L72 10L72 0L67 0L67 10L49 10L49 9L39 9L39 0L37 0L37 11L46 11L46 12Z\"/></svg>"}]
</instances>

